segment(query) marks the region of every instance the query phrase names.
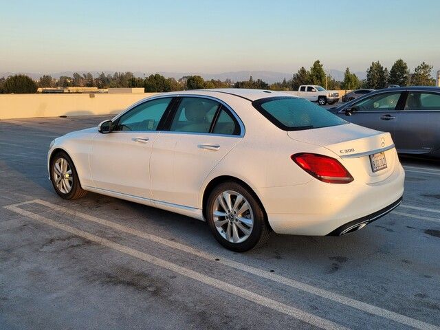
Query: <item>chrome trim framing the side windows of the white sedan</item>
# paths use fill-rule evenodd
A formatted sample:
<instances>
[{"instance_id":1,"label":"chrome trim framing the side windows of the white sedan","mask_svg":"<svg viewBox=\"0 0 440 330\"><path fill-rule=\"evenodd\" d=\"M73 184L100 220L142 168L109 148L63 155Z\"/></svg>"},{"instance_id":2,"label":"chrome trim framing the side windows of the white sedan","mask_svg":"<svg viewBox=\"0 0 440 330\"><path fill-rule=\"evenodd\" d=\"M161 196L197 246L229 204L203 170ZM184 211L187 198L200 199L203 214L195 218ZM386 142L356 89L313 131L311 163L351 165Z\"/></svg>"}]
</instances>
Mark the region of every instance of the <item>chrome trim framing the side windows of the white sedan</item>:
<instances>
[{"instance_id":1,"label":"chrome trim framing the side windows of the white sedan","mask_svg":"<svg viewBox=\"0 0 440 330\"><path fill-rule=\"evenodd\" d=\"M213 96L207 96L207 95L200 95L200 94L168 94L168 95L159 95L159 96L152 96L151 98L143 98L142 100L136 102L135 104L132 104L129 108L127 108L125 111L121 112L120 114L116 115L111 121L118 120L121 115L124 115L124 113L130 111L131 109L137 107L140 104L143 104L144 102L148 102L151 100L156 100L158 98L206 98L208 100L214 100L216 102L219 102L222 104L226 109L230 111L230 113L234 116L236 121L239 123L240 126L240 134L234 135L234 134L217 134L217 133L197 133L197 132L175 132L175 131L112 131L111 133L148 133L148 132L162 132L162 133L181 133L181 134L199 134L199 135L219 135L219 136L228 136L228 137L244 137L245 136L245 125L243 124L243 121L239 117L239 115L236 114L234 109L232 109L229 104L225 103L223 100L220 100L219 98L214 98Z\"/></svg>"}]
</instances>

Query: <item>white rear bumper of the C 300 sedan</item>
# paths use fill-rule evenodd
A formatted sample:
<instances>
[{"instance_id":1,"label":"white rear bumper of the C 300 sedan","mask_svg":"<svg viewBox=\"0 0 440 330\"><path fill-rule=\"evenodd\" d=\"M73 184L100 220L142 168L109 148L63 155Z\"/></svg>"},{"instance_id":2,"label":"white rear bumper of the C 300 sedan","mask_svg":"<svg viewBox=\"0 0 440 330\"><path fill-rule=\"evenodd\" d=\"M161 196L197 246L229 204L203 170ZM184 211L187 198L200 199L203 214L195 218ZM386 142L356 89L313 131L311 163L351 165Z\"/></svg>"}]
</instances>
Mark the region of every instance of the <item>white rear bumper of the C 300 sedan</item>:
<instances>
[{"instance_id":1,"label":"white rear bumper of the C 300 sedan","mask_svg":"<svg viewBox=\"0 0 440 330\"><path fill-rule=\"evenodd\" d=\"M298 186L261 188L259 197L274 232L325 236L352 221L371 221L391 208L404 194L404 179L404 169L397 163L393 173L376 184L313 179Z\"/></svg>"}]
</instances>

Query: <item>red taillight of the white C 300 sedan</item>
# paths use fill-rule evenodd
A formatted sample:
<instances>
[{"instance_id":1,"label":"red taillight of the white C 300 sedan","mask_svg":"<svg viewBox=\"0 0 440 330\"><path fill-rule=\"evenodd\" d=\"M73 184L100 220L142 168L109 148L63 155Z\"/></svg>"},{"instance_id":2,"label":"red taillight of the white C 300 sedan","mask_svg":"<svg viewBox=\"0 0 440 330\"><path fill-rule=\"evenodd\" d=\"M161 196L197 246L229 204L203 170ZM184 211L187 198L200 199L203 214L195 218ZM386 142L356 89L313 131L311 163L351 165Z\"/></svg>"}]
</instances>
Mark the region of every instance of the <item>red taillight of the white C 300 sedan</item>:
<instances>
[{"instance_id":1,"label":"red taillight of the white C 300 sedan","mask_svg":"<svg viewBox=\"0 0 440 330\"><path fill-rule=\"evenodd\" d=\"M290 156L309 175L329 184L348 184L353 177L337 159L316 153L296 153Z\"/></svg>"}]
</instances>

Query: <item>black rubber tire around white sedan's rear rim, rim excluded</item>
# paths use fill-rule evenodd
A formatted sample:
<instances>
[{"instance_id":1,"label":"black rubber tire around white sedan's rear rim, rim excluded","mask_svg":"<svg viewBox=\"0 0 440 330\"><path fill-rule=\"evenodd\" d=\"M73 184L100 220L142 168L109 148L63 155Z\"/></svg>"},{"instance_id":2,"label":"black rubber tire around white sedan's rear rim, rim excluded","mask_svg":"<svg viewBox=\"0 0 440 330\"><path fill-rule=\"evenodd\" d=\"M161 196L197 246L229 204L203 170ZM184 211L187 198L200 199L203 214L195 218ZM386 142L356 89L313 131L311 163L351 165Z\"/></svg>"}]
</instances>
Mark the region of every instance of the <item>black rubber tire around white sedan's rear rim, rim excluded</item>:
<instances>
[{"instance_id":1,"label":"black rubber tire around white sedan's rear rim, rim excluded","mask_svg":"<svg viewBox=\"0 0 440 330\"><path fill-rule=\"evenodd\" d=\"M233 192L238 192L240 195L242 195L242 197L244 197L245 201L248 201L248 204L250 206L250 209L252 210L252 214L254 217L252 232L249 234L248 239L245 239L245 241L240 243L232 243L227 239L225 239L220 234L219 230L217 230L217 227L214 224L213 212L214 212L214 207L216 206L216 199L223 192L227 192L231 190ZM235 252L245 252L252 248L256 248L263 245L267 241L267 239L269 239L271 233L270 226L268 225L267 219L265 217L265 212L263 211L263 208L260 205L259 201L256 199L256 197L254 197L252 192L248 190L248 188L243 187L241 184L235 181L223 182L222 184L219 184L217 187L215 187L212 190L212 192L208 197L208 201L206 203L206 217L208 220L208 224L210 226L210 230L214 235L214 238L221 245L223 245L223 247ZM226 219L226 218L223 217L218 219ZM228 224L226 223L225 225ZM241 225L243 225L243 223L241 223Z\"/></svg>"}]
</instances>

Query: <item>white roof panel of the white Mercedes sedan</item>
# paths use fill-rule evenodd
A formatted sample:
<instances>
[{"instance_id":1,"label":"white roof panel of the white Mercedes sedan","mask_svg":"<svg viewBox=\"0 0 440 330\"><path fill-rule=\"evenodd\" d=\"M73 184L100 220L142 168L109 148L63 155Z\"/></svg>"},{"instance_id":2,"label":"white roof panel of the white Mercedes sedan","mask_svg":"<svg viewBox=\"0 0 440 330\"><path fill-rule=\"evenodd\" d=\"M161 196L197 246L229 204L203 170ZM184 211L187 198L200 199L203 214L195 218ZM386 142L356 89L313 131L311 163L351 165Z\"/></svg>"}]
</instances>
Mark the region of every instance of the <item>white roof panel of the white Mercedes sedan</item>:
<instances>
[{"instance_id":1,"label":"white roof panel of the white Mercedes sedan","mask_svg":"<svg viewBox=\"0 0 440 330\"><path fill-rule=\"evenodd\" d=\"M236 96L245 100L254 101L261 98L270 98L272 96L290 96L296 98L292 94L283 91L269 91L266 89L242 89L242 88L218 88L218 89L191 89L188 91L171 91L169 93L161 93L161 95L185 96L185 95L201 95L213 96L217 98L224 97L225 94Z\"/></svg>"}]
</instances>

